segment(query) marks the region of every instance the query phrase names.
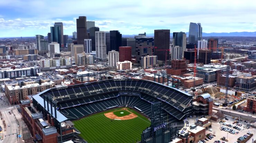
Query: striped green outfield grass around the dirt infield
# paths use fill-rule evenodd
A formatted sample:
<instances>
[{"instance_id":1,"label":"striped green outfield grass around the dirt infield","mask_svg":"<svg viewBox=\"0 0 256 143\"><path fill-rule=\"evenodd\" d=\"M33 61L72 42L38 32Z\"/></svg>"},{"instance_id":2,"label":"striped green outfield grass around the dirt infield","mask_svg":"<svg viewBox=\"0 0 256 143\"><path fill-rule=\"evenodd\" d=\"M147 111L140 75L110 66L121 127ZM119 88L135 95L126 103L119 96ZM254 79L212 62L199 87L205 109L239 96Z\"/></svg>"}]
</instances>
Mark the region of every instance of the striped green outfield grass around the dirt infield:
<instances>
[{"instance_id":1,"label":"striped green outfield grass around the dirt infield","mask_svg":"<svg viewBox=\"0 0 256 143\"><path fill-rule=\"evenodd\" d=\"M104 116L104 113L120 110L112 109L101 113L95 113L89 117L73 121L84 140L89 143L132 143L141 140L141 133L150 126L150 121L136 111L129 109L138 115L130 120L112 120ZM119 111L118 111L119 112ZM112 121L111 121L112 120Z\"/></svg>"}]
</instances>

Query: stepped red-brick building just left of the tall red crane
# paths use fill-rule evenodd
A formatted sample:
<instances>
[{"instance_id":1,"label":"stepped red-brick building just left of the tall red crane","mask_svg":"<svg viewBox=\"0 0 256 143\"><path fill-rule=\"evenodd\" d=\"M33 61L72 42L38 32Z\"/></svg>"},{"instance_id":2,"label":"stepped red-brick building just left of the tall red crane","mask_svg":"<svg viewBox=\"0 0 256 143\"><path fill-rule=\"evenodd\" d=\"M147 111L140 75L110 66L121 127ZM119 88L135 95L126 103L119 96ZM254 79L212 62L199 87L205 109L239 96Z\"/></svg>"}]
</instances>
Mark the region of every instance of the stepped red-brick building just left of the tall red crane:
<instances>
[{"instance_id":1,"label":"stepped red-brick building just left of the tall red crane","mask_svg":"<svg viewBox=\"0 0 256 143\"><path fill-rule=\"evenodd\" d=\"M186 62L184 59L172 60L172 68L166 69L166 74L169 75L182 75L187 73Z\"/></svg>"}]
</instances>

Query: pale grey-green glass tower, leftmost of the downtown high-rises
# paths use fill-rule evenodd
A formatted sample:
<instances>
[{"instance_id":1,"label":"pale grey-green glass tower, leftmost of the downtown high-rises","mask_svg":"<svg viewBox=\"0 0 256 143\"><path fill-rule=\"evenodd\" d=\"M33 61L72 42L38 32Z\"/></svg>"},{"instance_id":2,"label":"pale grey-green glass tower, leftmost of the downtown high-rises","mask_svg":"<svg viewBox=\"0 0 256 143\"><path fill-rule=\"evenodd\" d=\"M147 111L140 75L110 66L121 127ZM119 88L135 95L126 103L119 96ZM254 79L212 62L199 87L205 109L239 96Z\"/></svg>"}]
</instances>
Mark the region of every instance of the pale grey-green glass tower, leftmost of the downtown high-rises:
<instances>
[{"instance_id":1,"label":"pale grey-green glass tower, leftmost of the downtown high-rises","mask_svg":"<svg viewBox=\"0 0 256 143\"><path fill-rule=\"evenodd\" d=\"M44 39L44 36L42 35L36 35L36 47L38 50L38 54L46 54L48 52L48 47L47 47L47 40Z\"/></svg>"}]
</instances>

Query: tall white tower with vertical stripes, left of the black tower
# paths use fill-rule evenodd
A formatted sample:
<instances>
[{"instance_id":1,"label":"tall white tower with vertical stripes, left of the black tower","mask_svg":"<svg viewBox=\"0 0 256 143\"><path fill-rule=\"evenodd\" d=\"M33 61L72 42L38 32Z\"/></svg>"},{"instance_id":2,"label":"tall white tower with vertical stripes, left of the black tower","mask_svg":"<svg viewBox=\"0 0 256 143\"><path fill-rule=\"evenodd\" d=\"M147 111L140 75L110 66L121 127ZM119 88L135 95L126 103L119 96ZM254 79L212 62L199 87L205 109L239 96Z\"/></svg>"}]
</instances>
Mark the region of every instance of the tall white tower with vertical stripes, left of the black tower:
<instances>
[{"instance_id":1,"label":"tall white tower with vertical stripes, left of the black tower","mask_svg":"<svg viewBox=\"0 0 256 143\"><path fill-rule=\"evenodd\" d=\"M106 35L104 31L95 32L96 59L106 60Z\"/></svg>"}]
</instances>

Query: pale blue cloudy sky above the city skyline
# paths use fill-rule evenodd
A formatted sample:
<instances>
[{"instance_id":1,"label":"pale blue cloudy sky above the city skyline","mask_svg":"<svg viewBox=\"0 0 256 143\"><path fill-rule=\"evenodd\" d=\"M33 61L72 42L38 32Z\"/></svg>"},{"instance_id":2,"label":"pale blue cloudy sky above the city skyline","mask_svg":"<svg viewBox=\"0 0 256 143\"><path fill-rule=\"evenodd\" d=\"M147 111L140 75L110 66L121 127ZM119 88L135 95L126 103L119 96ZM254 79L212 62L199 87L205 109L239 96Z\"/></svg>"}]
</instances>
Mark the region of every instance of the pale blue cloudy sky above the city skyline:
<instances>
[{"instance_id":1,"label":"pale blue cloudy sky above the city skyline","mask_svg":"<svg viewBox=\"0 0 256 143\"><path fill-rule=\"evenodd\" d=\"M188 32L190 22L205 33L255 32L255 7L255 0L0 0L0 37L47 36L54 22L72 35L79 16L125 35Z\"/></svg>"}]
</instances>

